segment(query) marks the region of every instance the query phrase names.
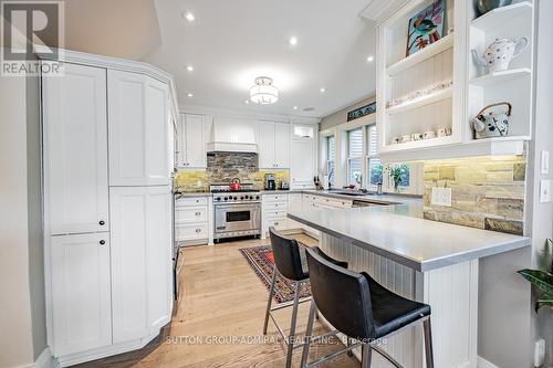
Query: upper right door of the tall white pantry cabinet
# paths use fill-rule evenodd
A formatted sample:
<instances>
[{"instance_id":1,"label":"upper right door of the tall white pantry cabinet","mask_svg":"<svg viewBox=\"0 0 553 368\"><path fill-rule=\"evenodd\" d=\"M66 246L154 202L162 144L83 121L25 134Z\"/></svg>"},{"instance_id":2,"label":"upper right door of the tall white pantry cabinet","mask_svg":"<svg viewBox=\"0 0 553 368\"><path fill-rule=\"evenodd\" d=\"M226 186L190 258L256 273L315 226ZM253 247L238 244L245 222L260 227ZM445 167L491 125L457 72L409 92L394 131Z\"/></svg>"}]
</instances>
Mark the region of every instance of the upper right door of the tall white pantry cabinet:
<instances>
[{"instance_id":1,"label":"upper right door of the tall white pantry cabinet","mask_svg":"<svg viewBox=\"0 0 553 368\"><path fill-rule=\"evenodd\" d=\"M168 185L167 84L138 73L109 70L107 97L109 185Z\"/></svg>"}]
</instances>

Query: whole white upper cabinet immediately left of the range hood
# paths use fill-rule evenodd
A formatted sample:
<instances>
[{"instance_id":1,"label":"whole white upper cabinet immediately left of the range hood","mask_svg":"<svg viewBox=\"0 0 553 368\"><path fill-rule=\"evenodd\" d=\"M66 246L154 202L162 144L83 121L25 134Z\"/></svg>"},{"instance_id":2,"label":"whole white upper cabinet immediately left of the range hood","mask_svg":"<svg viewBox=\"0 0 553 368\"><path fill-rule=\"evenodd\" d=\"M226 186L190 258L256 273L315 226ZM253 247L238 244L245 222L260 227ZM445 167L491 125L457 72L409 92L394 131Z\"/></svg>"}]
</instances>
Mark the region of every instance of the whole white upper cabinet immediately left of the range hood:
<instances>
[{"instance_id":1,"label":"whole white upper cabinet immediately left of the range hood","mask_svg":"<svg viewBox=\"0 0 553 368\"><path fill-rule=\"evenodd\" d=\"M179 167L206 168L207 167L207 122L205 115L181 114L179 146Z\"/></svg>"}]
</instances>

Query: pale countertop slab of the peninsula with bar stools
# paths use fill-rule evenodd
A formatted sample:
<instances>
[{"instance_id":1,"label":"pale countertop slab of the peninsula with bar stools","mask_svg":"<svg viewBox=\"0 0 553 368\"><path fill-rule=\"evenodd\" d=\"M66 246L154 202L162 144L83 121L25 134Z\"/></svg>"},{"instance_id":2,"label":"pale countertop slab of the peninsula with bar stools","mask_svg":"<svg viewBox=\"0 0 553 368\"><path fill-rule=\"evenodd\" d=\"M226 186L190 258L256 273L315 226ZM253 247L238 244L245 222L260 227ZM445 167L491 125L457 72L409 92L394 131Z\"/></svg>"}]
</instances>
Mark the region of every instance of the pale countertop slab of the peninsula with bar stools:
<instances>
[{"instance_id":1,"label":"pale countertop slab of the peninsula with bar stools","mask_svg":"<svg viewBox=\"0 0 553 368\"><path fill-rule=\"evenodd\" d=\"M530 245L525 236L413 217L409 206L302 207L289 218L421 272Z\"/></svg>"}]
</instances>

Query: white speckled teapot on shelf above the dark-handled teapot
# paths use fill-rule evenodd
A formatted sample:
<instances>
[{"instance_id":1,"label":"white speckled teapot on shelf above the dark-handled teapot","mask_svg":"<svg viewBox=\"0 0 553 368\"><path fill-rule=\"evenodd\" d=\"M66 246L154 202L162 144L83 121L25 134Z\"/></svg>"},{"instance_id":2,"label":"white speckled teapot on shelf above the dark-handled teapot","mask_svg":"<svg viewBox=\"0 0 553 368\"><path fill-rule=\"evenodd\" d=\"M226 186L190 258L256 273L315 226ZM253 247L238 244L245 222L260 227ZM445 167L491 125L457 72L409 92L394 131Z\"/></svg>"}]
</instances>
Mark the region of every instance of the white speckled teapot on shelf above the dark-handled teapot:
<instances>
[{"instance_id":1,"label":"white speckled teapot on shelf above the dark-handled teapot","mask_svg":"<svg viewBox=\"0 0 553 368\"><path fill-rule=\"evenodd\" d=\"M472 50L472 57L478 65L489 67L490 72L507 71L511 60L519 56L528 43L528 38L495 39L483 55Z\"/></svg>"}]
</instances>

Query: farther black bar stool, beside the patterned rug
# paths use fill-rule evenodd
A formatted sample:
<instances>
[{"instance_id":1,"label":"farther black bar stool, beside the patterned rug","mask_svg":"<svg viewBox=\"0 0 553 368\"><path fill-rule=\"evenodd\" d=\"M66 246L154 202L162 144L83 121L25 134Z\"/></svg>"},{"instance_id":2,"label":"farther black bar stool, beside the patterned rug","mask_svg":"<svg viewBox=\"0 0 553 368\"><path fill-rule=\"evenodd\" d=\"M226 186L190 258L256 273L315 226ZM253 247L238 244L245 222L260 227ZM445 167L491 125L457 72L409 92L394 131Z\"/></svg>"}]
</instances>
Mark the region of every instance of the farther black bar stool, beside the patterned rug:
<instances>
[{"instance_id":1,"label":"farther black bar stool, beside the patterned rug","mask_svg":"<svg viewBox=\"0 0 553 368\"><path fill-rule=\"evenodd\" d=\"M273 277L271 281L271 288L269 291L269 301L267 302L267 312L265 312L265 322L263 324L263 335L267 335L267 327L269 324L269 317L274 323L276 330L282 336L284 344L286 344L286 368L290 368L292 365L292 353L293 349L303 346L303 343L296 344L295 339L295 323L298 319L298 307L301 303L305 303L311 301L311 297L305 297L300 301L300 288L301 286L309 281L307 273L307 264L305 259L305 250L298 245L298 241L295 239L283 236L278 233L276 230L271 227L269 228L269 233L271 235L271 248L274 255L274 269L273 269ZM341 267L346 269L346 262L340 262L331 259L323 252L320 252L320 256L324 259L326 262L331 264L340 265ZM273 293L274 293L274 283L276 281L276 272L282 276L295 281L295 291L294 291L294 301L292 303L281 303L279 306L271 307ZM290 332L288 339L284 336L284 332L276 323L273 312L282 308L286 308L292 306L292 319L290 323Z\"/></svg>"}]
</instances>

